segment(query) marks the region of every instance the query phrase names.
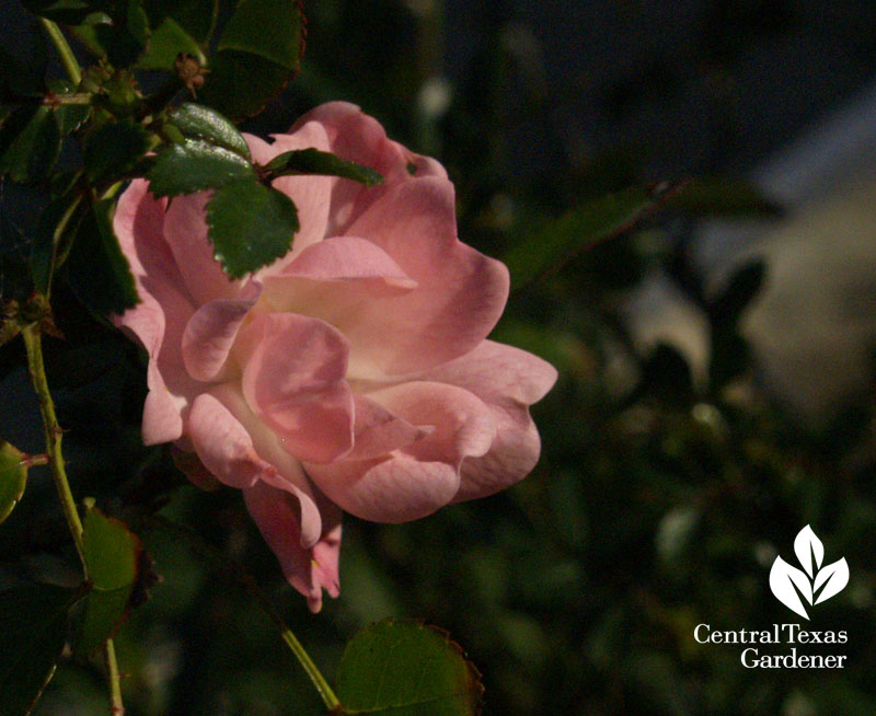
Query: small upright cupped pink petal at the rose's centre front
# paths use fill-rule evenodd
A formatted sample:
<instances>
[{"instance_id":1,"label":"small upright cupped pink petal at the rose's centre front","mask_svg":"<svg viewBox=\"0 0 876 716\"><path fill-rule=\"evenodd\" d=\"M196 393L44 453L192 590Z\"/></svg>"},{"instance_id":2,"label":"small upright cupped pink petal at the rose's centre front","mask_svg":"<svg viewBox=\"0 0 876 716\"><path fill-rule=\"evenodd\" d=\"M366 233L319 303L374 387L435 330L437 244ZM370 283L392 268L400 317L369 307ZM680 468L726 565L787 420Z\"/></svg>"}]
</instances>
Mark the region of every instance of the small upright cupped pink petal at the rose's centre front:
<instances>
[{"instance_id":1,"label":"small upright cupped pink petal at the rose's centre front","mask_svg":"<svg viewBox=\"0 0 876 716\"><path fill-rule=\"evenodd\" d=\"M295 313L257 315L241 331L243 394L301 460L330 462L353 448L349 345L327 323Z\"/></svg>"}]
</instances>

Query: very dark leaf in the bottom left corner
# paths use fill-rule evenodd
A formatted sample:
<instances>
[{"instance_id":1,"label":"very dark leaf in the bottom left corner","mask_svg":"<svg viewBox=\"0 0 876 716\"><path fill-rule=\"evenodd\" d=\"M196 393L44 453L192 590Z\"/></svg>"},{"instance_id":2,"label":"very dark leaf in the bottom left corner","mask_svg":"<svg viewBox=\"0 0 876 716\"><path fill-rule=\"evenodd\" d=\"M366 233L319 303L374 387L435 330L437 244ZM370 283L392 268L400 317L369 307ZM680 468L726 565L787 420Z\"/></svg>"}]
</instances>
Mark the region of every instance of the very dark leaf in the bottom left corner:
<instances>
[{"instance_id":1,"label":"very dark leaf in the bottom left corner","mask_svg":"<svg viewBox=\"0 0 876 716\"><path fill-rule=\"evenodd\" d=\"M81 590L50 585L0 593L0 714L28 714L55 672Z\"/></svg>"}]
</instances>

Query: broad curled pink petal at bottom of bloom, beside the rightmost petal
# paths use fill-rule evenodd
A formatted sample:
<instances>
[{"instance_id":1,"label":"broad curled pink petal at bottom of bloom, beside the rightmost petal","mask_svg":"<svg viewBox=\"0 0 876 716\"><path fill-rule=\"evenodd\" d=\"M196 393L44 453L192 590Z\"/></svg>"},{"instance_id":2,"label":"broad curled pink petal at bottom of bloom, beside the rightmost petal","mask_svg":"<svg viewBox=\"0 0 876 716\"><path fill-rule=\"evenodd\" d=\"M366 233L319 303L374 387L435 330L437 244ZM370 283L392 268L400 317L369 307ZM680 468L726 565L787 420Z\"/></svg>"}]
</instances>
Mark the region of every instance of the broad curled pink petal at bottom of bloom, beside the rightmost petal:
<instances>
[{"instance_id":1,"label":"broad curled pink petal at bottom of bloom, beside the rightmost petal","mask_svg":"<svg viewBox=\"0 0 876 716\"><path fill-rule=\"evenodd\" d=\"M346 511L374 522L404 522L447 505L459 490L459 469L483 455L496 434L483 402L441 383L403 383L368 397L431 432L371 460L306 464L316 486Z\"/></svg>"}]
</instances>

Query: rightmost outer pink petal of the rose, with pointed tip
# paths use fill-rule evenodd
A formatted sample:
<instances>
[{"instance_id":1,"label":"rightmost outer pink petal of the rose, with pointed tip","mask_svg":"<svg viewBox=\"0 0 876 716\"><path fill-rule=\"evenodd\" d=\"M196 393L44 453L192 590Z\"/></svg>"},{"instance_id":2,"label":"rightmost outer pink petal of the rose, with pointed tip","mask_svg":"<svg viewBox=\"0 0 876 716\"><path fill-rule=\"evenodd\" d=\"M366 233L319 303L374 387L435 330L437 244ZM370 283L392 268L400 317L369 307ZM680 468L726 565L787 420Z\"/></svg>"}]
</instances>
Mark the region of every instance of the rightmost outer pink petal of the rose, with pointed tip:
<instances>
[{"instance_id":1,"label":"rightmost outer pink petal of the rose, with pointed tip","mask_svg":"<svg viewBox=\"0 0 876 716\"><path fill-rule=\"evenodd\" d=\"M462 465L462 482L453 501L486 497L522 480L539 460L541 442L529 416L556 381L556 369L526 350L485 340L457 360L424 371L424 380L459 385L489 406L496 439L489 452Z\"/></svg>"}]
</instances>

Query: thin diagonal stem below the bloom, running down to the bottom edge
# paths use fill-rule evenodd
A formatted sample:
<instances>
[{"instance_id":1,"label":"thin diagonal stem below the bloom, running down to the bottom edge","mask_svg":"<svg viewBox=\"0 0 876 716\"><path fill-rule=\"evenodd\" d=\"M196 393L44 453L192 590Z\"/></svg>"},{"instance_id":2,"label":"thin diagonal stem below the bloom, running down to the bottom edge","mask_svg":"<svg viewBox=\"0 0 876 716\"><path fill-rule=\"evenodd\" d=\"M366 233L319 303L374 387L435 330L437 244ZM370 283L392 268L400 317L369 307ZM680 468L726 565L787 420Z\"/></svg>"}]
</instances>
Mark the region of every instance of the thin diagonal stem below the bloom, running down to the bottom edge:
<instances>
[{"instance_id":1,"label":"thin diagonal stem below the bloom, running down to the bottom edge","mask_svg":"<svg viewBox=\"0 0 876 716\"><path fill-rule=\"evenodd\" d=\"M332 691L332 688L328 685L325 677L322 675L319 668L316 668L316 665L313 663L310 655L304 650L304 647L301 646L301 642L299 642L296 635L292 634L292 631L267 598L267 594L265 594L265 592L262 591L262 589L255 582L255 579L253 579L252 575L243 571L243 569L241 569L237 564L229 561L226 555L218 554L216 547L214 547L206 540L200 538L200 535L193 532L187 527L178 524L177 522L173 522L172 520L165 519L161 516L151 517L149 518L149 521L184 538L188 544L197 550L197 552L209 558L210 562L212 562L218 568L240 584L241 587L243 587L258 602L258 605L277 626L280 632L280 637L310 678L311 683L313 683L314 689L320 694L320 697L328 709L328 713L342 713L341 701L335 695L335 692Z\"/></svg>"}]
</instances>

